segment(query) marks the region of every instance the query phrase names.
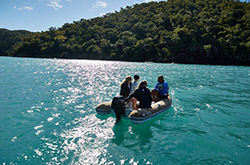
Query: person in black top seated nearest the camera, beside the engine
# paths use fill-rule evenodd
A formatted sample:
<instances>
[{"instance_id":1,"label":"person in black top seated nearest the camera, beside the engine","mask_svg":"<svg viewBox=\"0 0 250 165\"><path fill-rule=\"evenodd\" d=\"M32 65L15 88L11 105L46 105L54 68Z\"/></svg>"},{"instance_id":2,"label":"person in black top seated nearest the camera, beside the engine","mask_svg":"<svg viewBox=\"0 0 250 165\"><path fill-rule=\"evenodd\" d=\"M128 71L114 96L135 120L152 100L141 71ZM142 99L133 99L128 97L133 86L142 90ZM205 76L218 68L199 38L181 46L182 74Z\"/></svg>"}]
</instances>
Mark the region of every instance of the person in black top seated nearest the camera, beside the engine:
<instances>
[{"instance_id":1,"label":"person in black top seated nearest the camera, beside the engine","mask_svg":"<svg viewBox=\"0 0 250 165\"><path fill-rule=\"evenodd\" d=\"M132 101L133 110L151 108L152 97L150 90L147 88L147 81L141 81L139 87L125 99L125 101L128 100ZM137 101L139 101L138 107Z\"/></svg>"}]
</instances>

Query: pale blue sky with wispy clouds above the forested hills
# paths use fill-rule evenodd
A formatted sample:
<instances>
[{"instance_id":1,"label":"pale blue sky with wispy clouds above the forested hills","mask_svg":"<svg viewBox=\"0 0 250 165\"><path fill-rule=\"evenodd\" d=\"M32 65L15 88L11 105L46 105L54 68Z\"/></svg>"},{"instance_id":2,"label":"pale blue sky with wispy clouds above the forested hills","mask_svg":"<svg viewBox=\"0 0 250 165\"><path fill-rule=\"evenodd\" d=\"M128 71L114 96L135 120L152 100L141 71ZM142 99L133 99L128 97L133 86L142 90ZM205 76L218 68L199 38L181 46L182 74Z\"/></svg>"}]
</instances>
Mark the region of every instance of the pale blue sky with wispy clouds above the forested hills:
<instances>
[{"instance_id":1,"label":"pale blue sky with wispy clouds above the forested hills","mask_svg":"<svg viewBox=\"0 0 250 165\"><path fill-rule=\"evenodd\" d=\"M46 31L149 1L152 0L0 0L0 28Z\"/></svg>"}]
</instances>

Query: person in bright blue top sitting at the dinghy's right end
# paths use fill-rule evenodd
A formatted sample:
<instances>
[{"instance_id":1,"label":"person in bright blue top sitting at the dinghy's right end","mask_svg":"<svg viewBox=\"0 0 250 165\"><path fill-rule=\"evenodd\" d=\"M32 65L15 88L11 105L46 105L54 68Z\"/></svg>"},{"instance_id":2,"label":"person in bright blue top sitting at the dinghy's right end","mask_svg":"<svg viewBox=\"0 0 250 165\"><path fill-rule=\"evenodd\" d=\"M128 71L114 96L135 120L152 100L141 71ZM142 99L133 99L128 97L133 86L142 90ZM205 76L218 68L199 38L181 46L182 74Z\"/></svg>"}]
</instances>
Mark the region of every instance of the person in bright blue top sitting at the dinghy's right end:
<instances>
[{"instance_id":1,"label":"person in bright blue top sitting at the dinghy's right end","mask_svg":"<svg viewBox=\"0 0 250 165\"><path fill-rule=\"evenodd\" d=\"M154 91L158 91L160 100L168 98L168 90L168 83L164 81L163 76L159 76Z\"/></svg>"}]
</instances>

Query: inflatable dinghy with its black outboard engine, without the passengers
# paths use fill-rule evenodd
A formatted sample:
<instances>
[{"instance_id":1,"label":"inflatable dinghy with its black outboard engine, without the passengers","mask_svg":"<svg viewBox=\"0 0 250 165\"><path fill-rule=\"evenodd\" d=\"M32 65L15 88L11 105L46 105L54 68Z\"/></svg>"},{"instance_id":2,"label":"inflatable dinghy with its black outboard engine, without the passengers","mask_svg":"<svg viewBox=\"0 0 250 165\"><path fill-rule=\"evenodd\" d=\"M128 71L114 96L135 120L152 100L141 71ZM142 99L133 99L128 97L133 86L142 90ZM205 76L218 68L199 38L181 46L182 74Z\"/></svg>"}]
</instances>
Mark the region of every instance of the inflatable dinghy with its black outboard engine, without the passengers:
<instances>
[{"instance_id":1,"label":"inflatable dinghy with its black outboard engine, without the passengers","mask_svg":"<svg viewBox=\"0 0 250 165\"><path fill-rule=\"evenodd\" d=\"M153 117L165 112L171 107L172 99L170 96L163 100L152 102L151 108L139 108L133 110L132 106L125 103L125 98L116 96L112 101L103 102L96 106L96 112L100 115L115 114L117 120L121 116L127 117L132 123L143 123Z\"/></svg>"}]
</instances>

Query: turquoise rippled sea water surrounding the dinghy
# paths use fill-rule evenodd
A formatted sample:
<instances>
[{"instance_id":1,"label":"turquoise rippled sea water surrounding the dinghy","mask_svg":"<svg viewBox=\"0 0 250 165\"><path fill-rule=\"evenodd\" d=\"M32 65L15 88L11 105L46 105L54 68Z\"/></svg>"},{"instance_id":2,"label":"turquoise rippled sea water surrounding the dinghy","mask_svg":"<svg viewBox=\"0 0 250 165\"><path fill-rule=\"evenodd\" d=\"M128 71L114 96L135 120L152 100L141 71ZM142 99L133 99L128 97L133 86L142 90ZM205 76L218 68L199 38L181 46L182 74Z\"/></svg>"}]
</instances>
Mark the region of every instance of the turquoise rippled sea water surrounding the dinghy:
<instances>
[{"instance_id":1,"label":"turquoise rippled sea water surrounding the dinghy","mask_svg":"<svg viewBox=\"0 0 250 165\"><path fill-rule=\"evenodd\" d=\"M172 107L97 115L134 74L164 75ZM250 67L0 57L0 163L250 164L249 85Z\"/></svg>"}]
</instances>

